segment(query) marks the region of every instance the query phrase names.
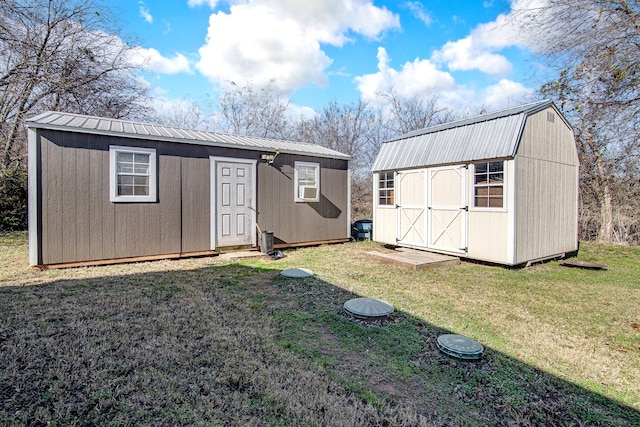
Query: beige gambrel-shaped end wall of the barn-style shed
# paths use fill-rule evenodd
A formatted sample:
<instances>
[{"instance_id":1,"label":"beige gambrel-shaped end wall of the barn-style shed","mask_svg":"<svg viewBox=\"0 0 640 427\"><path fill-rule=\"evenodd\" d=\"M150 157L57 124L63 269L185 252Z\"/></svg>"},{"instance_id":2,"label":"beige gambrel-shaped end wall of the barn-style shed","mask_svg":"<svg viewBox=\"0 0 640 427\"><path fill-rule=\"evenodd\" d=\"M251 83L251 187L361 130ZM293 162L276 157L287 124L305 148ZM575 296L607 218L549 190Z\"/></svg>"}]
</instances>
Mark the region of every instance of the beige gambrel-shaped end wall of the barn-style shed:
<instances>
[{"instance_id":1,"label":"beige gambrel-shaped end wall of the barn-style shed","mask_svg":"<svg viewBox=\"0 0 640 427\"><path fill-rule=\"evenodd\" d=\"M552 108L530 116L516 155L515 264L577 249L577 168L565 122Z\"/></svg>"}]
</instances>

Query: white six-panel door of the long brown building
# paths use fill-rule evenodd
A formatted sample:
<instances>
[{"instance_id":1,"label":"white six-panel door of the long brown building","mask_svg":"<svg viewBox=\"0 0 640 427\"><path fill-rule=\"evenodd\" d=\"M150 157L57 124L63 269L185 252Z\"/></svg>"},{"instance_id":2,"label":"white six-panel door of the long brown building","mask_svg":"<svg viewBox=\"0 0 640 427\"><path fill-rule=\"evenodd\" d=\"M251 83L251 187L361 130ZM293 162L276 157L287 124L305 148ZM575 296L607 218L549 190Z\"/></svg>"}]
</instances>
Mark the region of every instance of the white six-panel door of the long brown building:
<instances>
[{"instance_id":1,"label":"white six-panel door of the long brown building","mask_svg":"<svg viewBox=\"0 0 640 427\"><path fill-rule=\"evenodd\" d=\"M215 247L255 244L253 162L212 158Z\"/></svg>"}]
</instances>

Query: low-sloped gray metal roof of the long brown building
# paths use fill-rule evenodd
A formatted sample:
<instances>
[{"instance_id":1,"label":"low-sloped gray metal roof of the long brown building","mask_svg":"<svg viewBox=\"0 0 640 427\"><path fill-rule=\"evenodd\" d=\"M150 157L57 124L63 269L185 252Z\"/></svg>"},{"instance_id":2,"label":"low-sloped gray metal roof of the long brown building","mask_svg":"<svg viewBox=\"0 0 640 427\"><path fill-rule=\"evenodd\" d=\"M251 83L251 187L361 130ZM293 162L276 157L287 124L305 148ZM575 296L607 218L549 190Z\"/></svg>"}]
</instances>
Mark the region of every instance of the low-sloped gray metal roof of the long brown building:
<instances>
[{"instance_id":1,"label":"low-sloped gray metal roof of the long brown building","mask_svg":"<svg viewBox=\"0 0 640 427\"><path fill-rule=\"evenodd\" d=\"M47 111L27 120L27 126L37 129L64 130L80 133L112 135L122 138L147 139L184 144L210 145L240 148L255 151L275 151L281 153L304 154L333 159L350 159L351 156L315 144L284 141L253 136L226 135L215 132L180 129L148 123L80 114Z\"/></svg>"}]
</instances>

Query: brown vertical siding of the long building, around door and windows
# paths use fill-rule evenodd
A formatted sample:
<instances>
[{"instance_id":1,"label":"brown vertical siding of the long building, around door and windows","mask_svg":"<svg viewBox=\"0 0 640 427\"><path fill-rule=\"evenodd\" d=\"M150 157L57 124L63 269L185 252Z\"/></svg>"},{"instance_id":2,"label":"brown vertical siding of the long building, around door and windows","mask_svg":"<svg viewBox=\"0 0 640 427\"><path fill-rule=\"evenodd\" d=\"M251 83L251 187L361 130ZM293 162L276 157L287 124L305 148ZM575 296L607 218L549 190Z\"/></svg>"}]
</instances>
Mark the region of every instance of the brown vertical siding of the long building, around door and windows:
<instances>
[{"instance_id":1,"label":"brown vertical siding of the long building, around door and windows","mask_svg":"<svg viewBox=\"0 0 640 427\"><path fill-rule=\"evenodd\" d=\"M38 130L41 138L42 264L206 251L211 248L209 156L258 159L260 152ZM156 203L112 203L109 146L152 147ZM321 165L321 200L294 203L293 162ZM278 156L260 162L258 218L284 243L347 238L346 160ZM264 222L264 225L262 224Z\"/></svg>"}]
</instances>

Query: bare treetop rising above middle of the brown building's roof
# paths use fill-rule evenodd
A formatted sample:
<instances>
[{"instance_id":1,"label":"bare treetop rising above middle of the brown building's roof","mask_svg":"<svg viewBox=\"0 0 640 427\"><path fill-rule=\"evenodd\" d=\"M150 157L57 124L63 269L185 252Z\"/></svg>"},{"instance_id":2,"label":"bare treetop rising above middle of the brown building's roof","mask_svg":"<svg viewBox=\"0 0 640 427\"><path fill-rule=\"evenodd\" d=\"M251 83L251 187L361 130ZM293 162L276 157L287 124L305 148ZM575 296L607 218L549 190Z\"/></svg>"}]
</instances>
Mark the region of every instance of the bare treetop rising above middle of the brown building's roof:
<instances>
[{"instance_id":1,"label":"bare treetop rising above middle of the brown building's roof","mask_svg":"<svg viewBox=\"0 0 640 427\"><path fill-rule=\"evenodd\" d=\"M235 135L288 139L291 126L287 118L289 100L272 81L267 87L239 87L231 82L219 103L217 129Z\"/></svg>"}]
</instances>

